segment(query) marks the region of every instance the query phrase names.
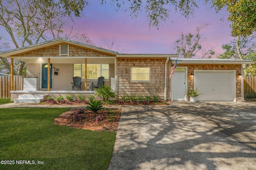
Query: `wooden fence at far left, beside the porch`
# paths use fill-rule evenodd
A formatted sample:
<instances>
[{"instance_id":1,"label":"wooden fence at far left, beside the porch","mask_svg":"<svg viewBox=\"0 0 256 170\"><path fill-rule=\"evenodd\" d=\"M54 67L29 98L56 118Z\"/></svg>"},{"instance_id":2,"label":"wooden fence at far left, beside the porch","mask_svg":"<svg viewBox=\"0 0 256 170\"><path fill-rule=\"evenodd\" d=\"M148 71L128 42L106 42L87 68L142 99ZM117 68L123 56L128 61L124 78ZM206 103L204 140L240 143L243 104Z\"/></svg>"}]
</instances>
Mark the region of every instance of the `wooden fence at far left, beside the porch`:
<instances>
[{"instance_id":1,"label":"wooden fence at far left, beside the porch","mask_svg":"<svg viewBox=\"0 0 256 170\"><path fill-rule=\"evenodd\" d=\"M23 90L24 76L13 76L13 90ZM0 98L10 97L11 76L0 76Z\"/></svg>"}]
</instances>

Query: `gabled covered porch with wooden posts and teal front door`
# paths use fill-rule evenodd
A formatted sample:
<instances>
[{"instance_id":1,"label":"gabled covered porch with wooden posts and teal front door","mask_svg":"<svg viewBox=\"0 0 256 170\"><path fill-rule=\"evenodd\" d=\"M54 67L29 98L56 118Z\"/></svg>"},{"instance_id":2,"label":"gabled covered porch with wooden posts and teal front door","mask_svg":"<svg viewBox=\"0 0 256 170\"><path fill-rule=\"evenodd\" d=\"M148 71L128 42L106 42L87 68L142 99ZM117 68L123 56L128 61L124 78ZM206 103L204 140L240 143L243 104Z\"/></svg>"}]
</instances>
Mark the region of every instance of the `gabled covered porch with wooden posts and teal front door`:
<instances>
[{"instance_id":1,"label":"gabled covered porch with wooden posts and teal front door","mask_svg":"<svg viewBox=\"0 0 256 170\"><path fill-rule=\"evenodd\" d=\"M102 49L67 39L54 39L22 47L1 54L11 59L10 93L11 100L19 95L43 94L48 97L78 94L86 97L94 95L92 83L104 76L104 85L116 87L116 54L115 51ZM13 91L14 59L25 61L26 78L36 78L36 88L30 86L21 91ZM72 91L73 77L81 77L81 88Z\"/></svg>"}]
</instances>

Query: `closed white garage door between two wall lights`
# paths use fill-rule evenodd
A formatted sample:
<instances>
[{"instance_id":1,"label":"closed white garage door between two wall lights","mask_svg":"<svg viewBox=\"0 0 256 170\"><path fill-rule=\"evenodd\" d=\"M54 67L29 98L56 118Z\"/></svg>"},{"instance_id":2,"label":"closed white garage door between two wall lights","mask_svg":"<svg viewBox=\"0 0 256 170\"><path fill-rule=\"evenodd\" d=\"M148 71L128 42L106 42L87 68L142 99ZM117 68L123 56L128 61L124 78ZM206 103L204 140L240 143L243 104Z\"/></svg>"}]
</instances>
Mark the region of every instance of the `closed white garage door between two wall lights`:
<instances>
[{"instance_id":1,"label":"closed white garage door between two wall lights","mask_svg":"<svg viewBox=\"0 0 256 170\"><path fill-rule=\"evenodd\" d=\"M194 87L200 89L198 101L234 101L234 72L195 71Z\"/></svg>"}]
</instances>

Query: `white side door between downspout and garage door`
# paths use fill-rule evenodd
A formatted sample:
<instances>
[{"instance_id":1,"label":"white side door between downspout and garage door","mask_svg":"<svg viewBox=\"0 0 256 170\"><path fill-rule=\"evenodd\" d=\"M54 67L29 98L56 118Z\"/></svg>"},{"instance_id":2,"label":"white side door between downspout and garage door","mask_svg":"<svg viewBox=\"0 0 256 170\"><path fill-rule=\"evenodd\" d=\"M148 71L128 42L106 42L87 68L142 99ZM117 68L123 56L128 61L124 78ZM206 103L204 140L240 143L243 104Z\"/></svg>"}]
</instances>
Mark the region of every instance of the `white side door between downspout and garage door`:
<instances>
[{"instance_id":1,"label":"white side door between downspout and garage door","mask_svg":"<svg viewBox=\"0 0 256 170\"><path fill-rule=\"evenodd\" d=\"M186 101L186 71L174 71L171 78L172 101Z\"/></svg>"}]
</instances>

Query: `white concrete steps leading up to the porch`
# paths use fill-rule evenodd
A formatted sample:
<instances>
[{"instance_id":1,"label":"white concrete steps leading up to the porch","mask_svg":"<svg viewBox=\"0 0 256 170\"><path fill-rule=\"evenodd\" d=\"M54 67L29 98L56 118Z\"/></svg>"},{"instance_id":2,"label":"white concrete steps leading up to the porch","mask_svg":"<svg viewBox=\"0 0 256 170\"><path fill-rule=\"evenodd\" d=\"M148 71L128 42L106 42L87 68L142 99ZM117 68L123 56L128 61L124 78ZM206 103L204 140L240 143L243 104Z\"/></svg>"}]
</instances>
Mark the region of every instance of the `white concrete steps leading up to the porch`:
<instances>
[{"instance_id":1,"label":"white concrete steps leading up to the porch","mask_svg":"<svg viewBox=\"0 0 256 170\"><path fill-rule=\"evenodd\" d=\"M23 94L19 95L18 99L14 99L14 103L39 103L46 100L48 95L40 94Z\"/></svg>"}]
</instances>

